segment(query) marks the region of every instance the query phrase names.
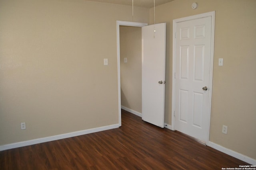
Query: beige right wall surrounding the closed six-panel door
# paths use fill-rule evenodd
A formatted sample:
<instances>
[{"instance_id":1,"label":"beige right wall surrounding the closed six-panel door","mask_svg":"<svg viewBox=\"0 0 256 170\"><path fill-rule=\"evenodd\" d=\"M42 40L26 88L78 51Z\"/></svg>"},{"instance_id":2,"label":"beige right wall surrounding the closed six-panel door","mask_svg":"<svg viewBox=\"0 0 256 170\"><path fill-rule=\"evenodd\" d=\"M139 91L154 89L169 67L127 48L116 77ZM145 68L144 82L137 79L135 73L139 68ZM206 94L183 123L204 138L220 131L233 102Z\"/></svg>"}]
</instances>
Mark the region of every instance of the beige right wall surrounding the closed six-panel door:
<instances>
[{"instance_id":1,"label":"beige right wall surrounding the closed six-panel door","mask_svg":"<svg viewBox=\"0 0 256 170\"><path fill-rule=\"evenodd\" d=\"M256 159L256 1L197 0L192 10L193 2L174 0L156 7L156 23L166 22L167 30L165 122L171 124L172 116L172 20L215 11L210 141ZM151 24L153 16L151 8Z\"/></svg>"}]
</instances>

